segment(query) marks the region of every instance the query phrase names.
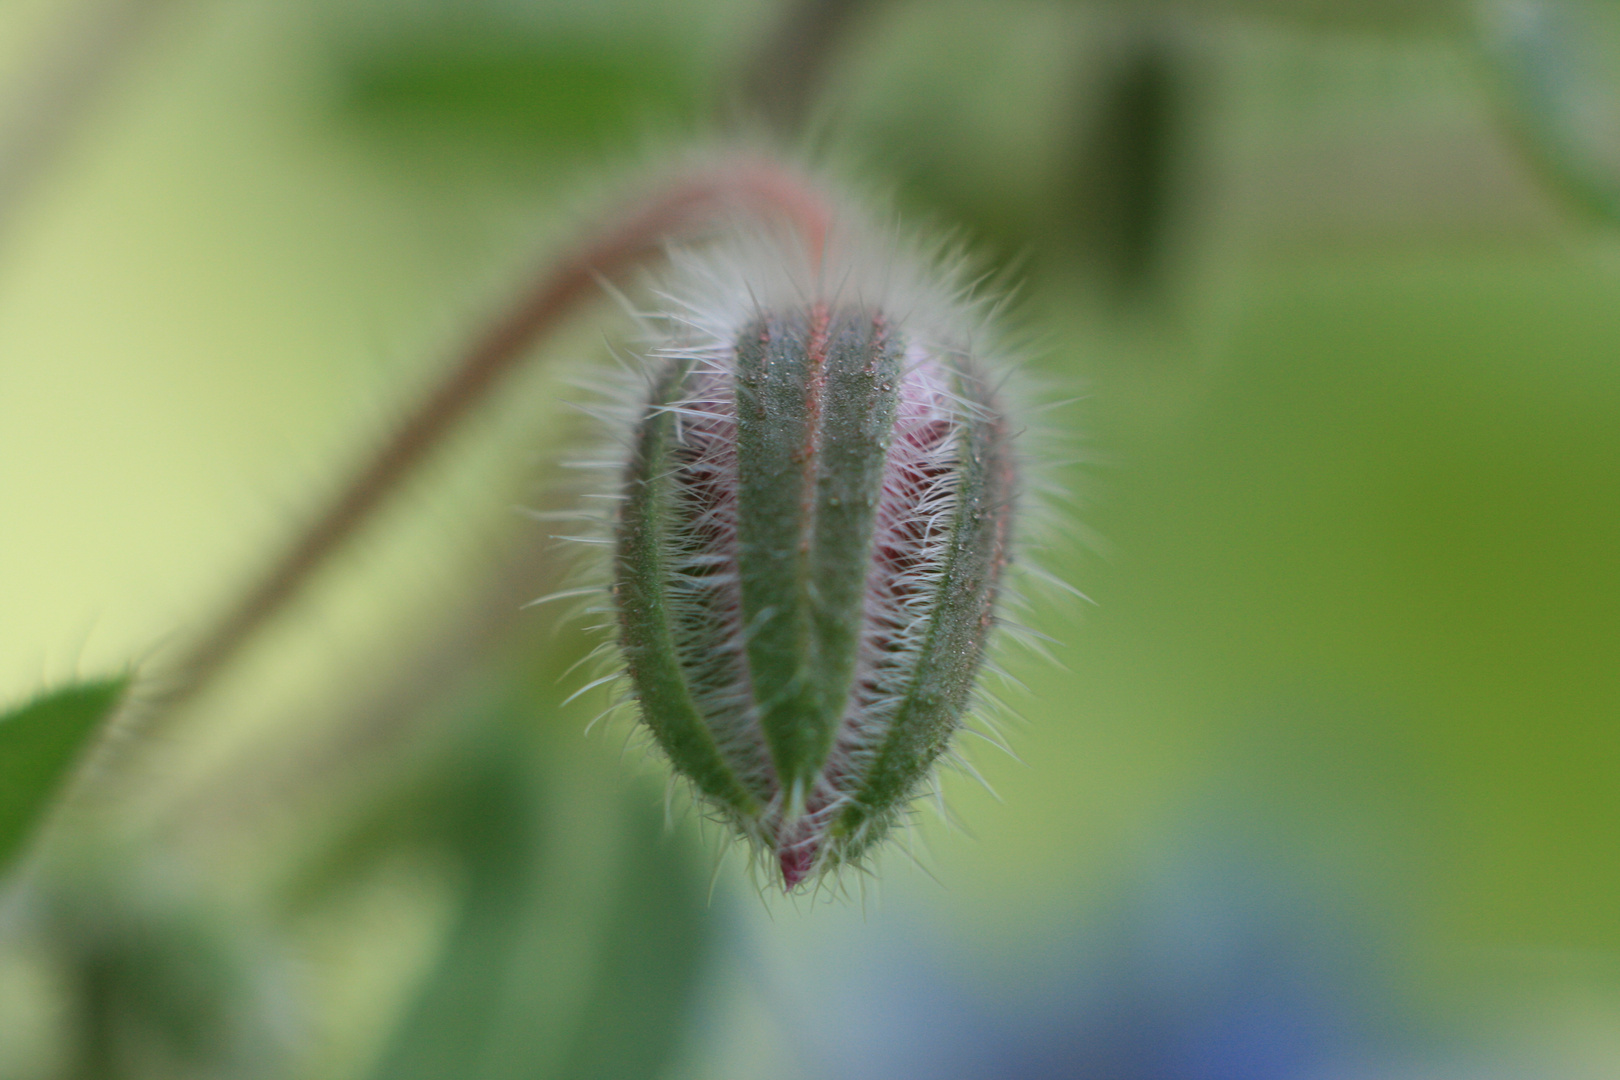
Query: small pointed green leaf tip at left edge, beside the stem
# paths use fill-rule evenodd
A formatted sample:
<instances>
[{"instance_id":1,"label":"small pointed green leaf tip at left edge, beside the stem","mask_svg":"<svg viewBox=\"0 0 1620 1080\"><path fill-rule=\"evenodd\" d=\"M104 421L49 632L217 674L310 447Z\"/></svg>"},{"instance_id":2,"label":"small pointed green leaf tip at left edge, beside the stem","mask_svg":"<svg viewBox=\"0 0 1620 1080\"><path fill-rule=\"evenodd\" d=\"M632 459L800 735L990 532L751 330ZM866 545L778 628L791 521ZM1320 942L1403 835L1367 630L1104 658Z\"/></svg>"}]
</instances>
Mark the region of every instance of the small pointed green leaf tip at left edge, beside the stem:
<instances>
[{"instance_id":1,"label":"small pointed green leaf tip at left edge, beside the stem","mask_svg":"<svg viewBox=\"0 0 1620 1080\"><path fill-rule=\"evenodd\" d=\"M16 860L130 678L50 691L0 716L0 873Z\"/></svg>"}]
</instances>

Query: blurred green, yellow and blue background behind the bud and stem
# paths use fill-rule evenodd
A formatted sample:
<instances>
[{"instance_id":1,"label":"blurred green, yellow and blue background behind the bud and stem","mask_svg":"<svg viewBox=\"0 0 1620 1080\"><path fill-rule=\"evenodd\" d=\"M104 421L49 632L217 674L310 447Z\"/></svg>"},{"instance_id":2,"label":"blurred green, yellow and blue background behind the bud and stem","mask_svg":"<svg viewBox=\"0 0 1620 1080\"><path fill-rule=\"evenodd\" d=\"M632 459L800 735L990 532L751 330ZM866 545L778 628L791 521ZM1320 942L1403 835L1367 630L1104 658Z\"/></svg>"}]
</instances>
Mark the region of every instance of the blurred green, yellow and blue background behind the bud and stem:
<instances>
[{"instance_id":1,"label":"blurred green, yellow and blue background behind the bud and stem","mask_svg":"<svg viewBox=\"0 0 1620 1080\"><path fill-rule=\"evenodd\" d=\"M1011 266L1082 398L1017 758L782 899L582 737L517 507L603 298L11 881L0 1077L1620 1075L1604 0L10 0L0 701L160 670L737 131Z\"/></svg>"}]
</instances>

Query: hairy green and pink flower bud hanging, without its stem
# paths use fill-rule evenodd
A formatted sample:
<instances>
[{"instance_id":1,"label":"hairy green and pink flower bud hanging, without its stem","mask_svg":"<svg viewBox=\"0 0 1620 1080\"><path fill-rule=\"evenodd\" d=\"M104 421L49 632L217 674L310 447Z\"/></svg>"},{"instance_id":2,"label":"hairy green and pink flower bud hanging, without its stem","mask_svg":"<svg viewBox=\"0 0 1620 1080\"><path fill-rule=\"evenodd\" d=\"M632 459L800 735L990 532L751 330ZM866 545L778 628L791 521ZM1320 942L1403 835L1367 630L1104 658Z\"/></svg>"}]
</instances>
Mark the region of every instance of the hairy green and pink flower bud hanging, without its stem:
<instances>
[{"instance_id":1,"label":"hairy green and pink flower bud hanging, without its stem","mask_svg":"<svg viewBox=\"0 0 1620 1080\"><path fill-rule=\"evenodd\" d=\"M619 644L658 745L791 889L880 839L962 724L1008 423L959 313L893 266L687 274L624 471Z\"/></svg>"}]
</instances>

